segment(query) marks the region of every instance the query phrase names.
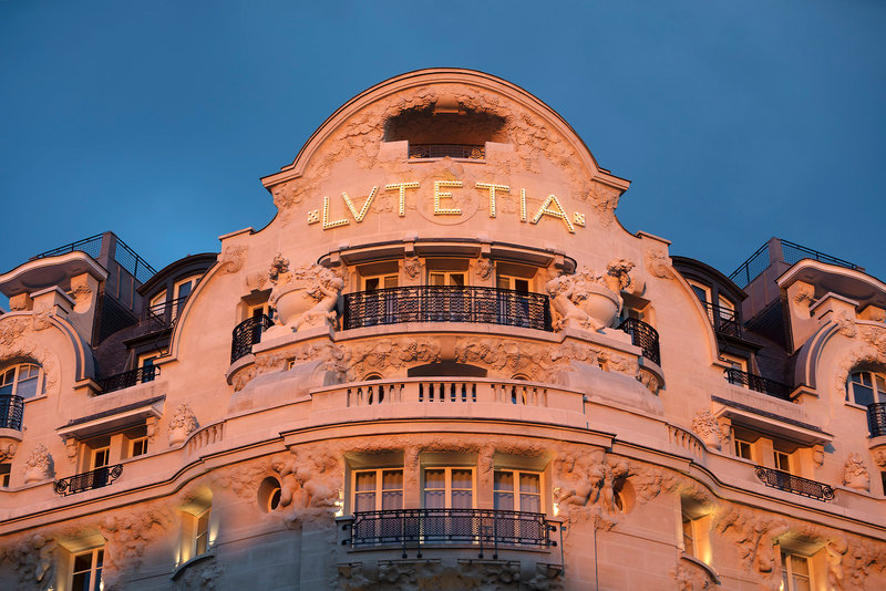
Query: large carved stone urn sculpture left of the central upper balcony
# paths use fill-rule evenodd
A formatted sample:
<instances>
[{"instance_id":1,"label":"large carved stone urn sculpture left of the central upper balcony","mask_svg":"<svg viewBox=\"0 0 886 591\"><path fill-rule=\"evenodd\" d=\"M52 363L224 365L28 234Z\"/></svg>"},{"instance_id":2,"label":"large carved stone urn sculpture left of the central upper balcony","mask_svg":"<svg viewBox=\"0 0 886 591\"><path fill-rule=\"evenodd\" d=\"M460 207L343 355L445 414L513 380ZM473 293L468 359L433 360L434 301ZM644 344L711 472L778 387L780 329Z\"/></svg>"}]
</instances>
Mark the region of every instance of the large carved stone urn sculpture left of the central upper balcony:
<instances>
[{"instance_id":1,"label":"large carved stone urn sculpture left of the central upper balcony","mask_svg":"<svg viewBox=\"0 0 886 591\"><path fill-rule=\"evenodd\" d=\"M289 260L277 256L268 272L274 289L269 303L277 320L292 332L330 326L336 318L336 301L344 281L319 265L289 269Z\"/></svg>"}]
</instances>

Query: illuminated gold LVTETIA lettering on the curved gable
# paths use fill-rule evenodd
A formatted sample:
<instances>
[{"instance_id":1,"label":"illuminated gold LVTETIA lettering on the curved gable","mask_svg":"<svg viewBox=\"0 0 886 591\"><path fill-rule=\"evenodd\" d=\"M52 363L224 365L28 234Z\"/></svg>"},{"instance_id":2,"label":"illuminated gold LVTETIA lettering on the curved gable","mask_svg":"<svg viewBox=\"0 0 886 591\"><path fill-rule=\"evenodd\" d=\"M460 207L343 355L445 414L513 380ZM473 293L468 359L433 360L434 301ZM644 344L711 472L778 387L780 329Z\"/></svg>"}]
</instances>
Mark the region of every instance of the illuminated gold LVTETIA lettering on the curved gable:
<instances>
[{"instance_id":1,"label":"illuminated gold LVTETIA lettering on the curved gable","mask_svg":"<svg viewBox=\"0 0 886 591\"><path fill-rule=\"evenodd\" d=\"M433 189L433 209L430 208L429 204L429 214L433 216L443 216L443 217L455 217L455 216L463 216L465 212L462 210L462 207L459 207L455 203L455 196L452 193L452 189L462 188L463 187L461 180L434 180L434 189ZM406 191L409 190L418 190L421 188L421 184L415 180L405 182L405 183L391 183L390 185L384 185L383 191L388 193L396 193L399 197L399 208L398 214L400 217L405 217L406 215ZM585 215L579 212L574 212L571 217L566 212L560 204L560 200L557 198L556 195L548 195L543 201L542 207L539 207L535 211L529 211L528 206L526 203L526 189L519 189L519 196L511 193L511 187L507 185L496 185L494 183L476 183L473 187L476 191L480 191L481 195L488 196L490 199L490 217L496 217L496 204L499 199L519 199L519 220L529 224L538 224L538 221L544 217L552 217L563 222L566 226L566 229L569 232L575 234L576 226L585 227ZM308 225L313 224L321 224L323 230L329 230L332 228L339 228L341 226L348 226L351 220L356 224L360 224L365 219L367 214L369 214L369 207L372 205L372 201L379 195L379 187L374 186L369 191L369 195L365 197L363 204L359 207L354 203L357 199L351 199L347 193L341 194L341 199L344 203L344 211L331 214L330 210L332 206L330 204L329 197L323 197L323 207L322 209L313 209L308 212ZM338 209L338 208L337 208ZM336 216L337 219L332 219ZM338 217L342 216L342 217Z\"/></svg>"}]
</instances>

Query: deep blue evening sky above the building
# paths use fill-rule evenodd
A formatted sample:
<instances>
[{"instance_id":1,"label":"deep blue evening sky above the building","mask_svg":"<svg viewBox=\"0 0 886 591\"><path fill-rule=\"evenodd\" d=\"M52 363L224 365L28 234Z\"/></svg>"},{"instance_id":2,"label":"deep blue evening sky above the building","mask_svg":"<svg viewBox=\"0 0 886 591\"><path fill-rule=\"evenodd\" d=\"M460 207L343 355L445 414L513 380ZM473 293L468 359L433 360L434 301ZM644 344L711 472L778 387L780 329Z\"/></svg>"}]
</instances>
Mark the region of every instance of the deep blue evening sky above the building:
<instances>
[{"instance_id":1,"label":"deep blue evening sky above the building","mask_svg":"<svg viewBox=\"0 0 886 591\"><path fill-rule=\"evenodd\" d=\"M156 269L216 251L342 103L461 66L557 110L671 253L779 236L886 279L886 2L319 4L0 0L0 272L106 229Z\"/></svg>"}]
</instances>

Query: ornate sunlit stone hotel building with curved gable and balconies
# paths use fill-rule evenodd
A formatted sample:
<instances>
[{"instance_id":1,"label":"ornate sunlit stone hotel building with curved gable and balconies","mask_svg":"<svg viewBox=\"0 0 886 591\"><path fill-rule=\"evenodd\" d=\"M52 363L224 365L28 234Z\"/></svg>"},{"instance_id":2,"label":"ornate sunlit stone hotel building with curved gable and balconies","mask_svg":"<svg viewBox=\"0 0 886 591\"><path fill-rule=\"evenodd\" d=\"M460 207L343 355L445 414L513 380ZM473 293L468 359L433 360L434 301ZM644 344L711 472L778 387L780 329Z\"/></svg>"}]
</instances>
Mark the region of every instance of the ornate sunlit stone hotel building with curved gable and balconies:
<instances>
[{"instance_id":1,"label":"ornate sunlit stone hotel building with curved gable and balconies","mask_svg":"<svg viewBox=\"0 0 886 591\"><path fill-rule=\"evenodd\" d=\"M731 277L501 79L425 70L155 271L0 276L0 588L886 588L886 286Z\"/></svg>"}]
</instances>

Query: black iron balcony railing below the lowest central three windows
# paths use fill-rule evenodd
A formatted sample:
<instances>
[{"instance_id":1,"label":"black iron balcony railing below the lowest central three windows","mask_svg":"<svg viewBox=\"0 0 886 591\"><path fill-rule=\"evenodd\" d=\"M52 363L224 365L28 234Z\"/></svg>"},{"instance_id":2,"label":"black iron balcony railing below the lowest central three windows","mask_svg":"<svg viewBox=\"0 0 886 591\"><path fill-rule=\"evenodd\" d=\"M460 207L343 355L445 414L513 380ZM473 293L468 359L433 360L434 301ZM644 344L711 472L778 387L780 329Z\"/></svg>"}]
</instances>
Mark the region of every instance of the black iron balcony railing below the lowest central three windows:
<instances>
[{"instance_id":1,"label":"black iron balcony railing below the lowest central three windows","mask_svg":"<svg viewBox=\"0 0 886 591\"><path fill-rule=\"evenodd\" d=\"M352 548L396 545L403 548L462 542L497 551L498 546L556 546L556 526L545 514L499 509L393 509L356 512L350 525Z\"/></svg>"}]
</instances>

